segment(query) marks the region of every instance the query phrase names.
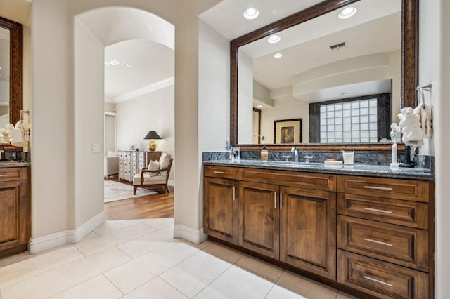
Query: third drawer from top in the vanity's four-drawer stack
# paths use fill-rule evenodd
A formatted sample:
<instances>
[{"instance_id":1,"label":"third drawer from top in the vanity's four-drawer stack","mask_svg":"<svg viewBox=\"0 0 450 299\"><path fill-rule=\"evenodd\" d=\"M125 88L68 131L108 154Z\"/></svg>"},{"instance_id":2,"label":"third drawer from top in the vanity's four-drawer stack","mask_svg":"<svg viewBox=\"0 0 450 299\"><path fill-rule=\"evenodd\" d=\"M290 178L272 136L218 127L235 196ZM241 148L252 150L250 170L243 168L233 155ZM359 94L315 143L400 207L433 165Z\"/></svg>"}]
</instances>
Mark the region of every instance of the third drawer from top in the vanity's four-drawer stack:
<instances>
[{"instance_id":1,"label":"third drawer from top in the vanity's four-drawer stack","mask_svg":"<svg viewBox=\"0 0 450 299\"><path fill-rule=\"evenodd\" d=\"M338 248L428 271L428 232L338 215Z\"/></svg>"}]
</instances>

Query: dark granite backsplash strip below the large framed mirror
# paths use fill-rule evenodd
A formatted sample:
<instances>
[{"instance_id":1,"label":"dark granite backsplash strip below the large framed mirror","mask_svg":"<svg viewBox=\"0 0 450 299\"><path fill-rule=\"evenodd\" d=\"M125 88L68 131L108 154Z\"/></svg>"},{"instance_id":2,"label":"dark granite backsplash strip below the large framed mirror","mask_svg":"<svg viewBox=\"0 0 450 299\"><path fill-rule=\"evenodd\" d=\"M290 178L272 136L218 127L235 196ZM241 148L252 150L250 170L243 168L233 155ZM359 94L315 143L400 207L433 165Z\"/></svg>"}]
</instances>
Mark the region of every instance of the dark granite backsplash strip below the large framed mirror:
<instances>
[{"instance_id":1,"label":"dark granite backsplash strip below the large framed mirror","mask_svg":"<svg viewBox=\"0 0 450 299\"><path fill-rule=\"evenodd\" d=\"M298 161L304 162L307 159L305 156L312 157L309 159L311 163L323 163L326 159L342 160L340 152L313 152L313 151L299 151ZM229 152L204 152L203 161L225 160L229 159ZM283 151L269 151L269 161L285 161L289 157L289 161L294 161L294 155L291 152ZM240 159L242 160L259 160L261 152L259 151L240 151ZM398 153L398 161L404 161L404 152ZM390 165L391 152L354 152L355 164L370 164L370 165ZM416 154L416 168L431 169L434 171L434 157L425 154Z\"/></svg>"}]
</instances>

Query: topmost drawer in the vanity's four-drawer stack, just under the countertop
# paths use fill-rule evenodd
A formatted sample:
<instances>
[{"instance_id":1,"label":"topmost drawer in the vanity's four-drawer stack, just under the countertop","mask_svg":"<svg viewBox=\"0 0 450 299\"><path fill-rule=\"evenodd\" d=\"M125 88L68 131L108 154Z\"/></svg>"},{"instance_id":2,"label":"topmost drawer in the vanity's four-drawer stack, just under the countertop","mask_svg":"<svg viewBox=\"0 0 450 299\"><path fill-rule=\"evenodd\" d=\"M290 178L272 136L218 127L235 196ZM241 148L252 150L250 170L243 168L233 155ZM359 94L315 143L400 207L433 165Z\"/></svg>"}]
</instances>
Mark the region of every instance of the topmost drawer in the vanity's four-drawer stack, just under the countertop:
<instances>
[{"instance_id":1,"label":"topmost drawer in the vanity's four-drawer stack, just under the countertop","mask_svg":"<svg viewBox=\"0 0 450 299\"><path fill-rule=\"evenodd\" d=\"M338 192L428 202L430 182L340 175Z\"/></svg>"}]
</instances>

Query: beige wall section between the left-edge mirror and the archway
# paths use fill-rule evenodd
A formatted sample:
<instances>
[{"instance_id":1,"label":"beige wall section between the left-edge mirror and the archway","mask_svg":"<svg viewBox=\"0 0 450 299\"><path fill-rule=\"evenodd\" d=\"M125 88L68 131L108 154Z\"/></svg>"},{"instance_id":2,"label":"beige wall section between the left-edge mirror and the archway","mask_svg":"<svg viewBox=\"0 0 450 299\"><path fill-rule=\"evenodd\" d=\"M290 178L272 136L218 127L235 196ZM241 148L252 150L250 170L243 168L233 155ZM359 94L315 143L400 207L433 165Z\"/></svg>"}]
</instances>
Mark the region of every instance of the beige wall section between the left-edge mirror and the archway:
<instances>
[{"instance_id":1,"label":"beige wall section between the left-edge mirror and the archway","mask_svg":"<svg viewBox=\"0 0 450 299\"><path fill-rule=\"evenodd\" d=\"M73 44L65 1L32 3L32 238L74 227Z\"/></svg>"}]
</instances>

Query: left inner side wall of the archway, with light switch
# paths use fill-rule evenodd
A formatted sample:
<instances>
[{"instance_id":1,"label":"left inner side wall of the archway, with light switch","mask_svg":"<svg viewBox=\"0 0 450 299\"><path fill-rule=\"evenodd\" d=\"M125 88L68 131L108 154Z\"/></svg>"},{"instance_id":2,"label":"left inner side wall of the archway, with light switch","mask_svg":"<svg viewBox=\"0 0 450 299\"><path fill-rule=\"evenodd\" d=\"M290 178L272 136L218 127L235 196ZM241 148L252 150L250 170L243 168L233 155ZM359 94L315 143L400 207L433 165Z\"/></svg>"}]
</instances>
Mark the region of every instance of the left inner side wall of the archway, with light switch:
<instances>
[{"instance_id":1,"label":"left inner side wall of the archway, with light switch","mask_svg":"<svg viewBox=\"0 0 450 299\"><path fill-rule=\"evenodd\" d=\"M103 211L104 53L103 44L75 19L75 227ZM91 69L86 72L86 65ZM89 121L86 121L89 119ZM100 145L93 152L94 143ZM92 177L86 180L86 174Z\"/></svg>"}]
</instances>

